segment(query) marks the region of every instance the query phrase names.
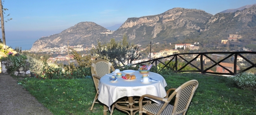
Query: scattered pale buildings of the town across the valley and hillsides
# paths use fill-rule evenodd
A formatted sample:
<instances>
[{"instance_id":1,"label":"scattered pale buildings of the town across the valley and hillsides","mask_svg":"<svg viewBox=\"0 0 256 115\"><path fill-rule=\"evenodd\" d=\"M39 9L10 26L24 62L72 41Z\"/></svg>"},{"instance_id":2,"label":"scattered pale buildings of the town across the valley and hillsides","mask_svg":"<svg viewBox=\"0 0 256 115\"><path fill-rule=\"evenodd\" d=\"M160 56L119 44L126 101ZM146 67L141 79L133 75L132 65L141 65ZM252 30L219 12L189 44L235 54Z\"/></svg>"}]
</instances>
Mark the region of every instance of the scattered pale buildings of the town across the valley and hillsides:
<instances>
[{"instance_id":1,"label":"scattered pale buildings of the town across the valley and hillsides","mask_svg":"<svg viewBox=\"0 0 256 115\"><path fill-rule=\"evenodd\" d=\"M104 32L104 33L100 33L100 34L112 34L112 31L109 32ZM242 36L238 35L238 34L229 34L227 39L221 40L221 44L228 44L228 41L237 41L237 39L241 39ZM159 45L160 43L157 42L156 45ZM169 43L171 45L171 43ZM139 62L144 62L144 61L148 61L149 59L155 59L155 58L159 58L159 57L165 57L168 55L173 55L175 53L180 53L180 51L183 51L185 49L189 49L189 50L199 50L200 46L198 46L199 42L194 42L194 44L175 44L174 45L174 49L164 49L161 50L159 52L155 52L154 49L152 49L152 53L149 53L146 58L144 59L140 59L140 60L134 60L132 63L139 63ZM140 44L137 44L137 46L141 46ZM84 47L83 44L78 44L76 46L69 46L69 48L73 48L75 51L90 51L92 48L95 48L95 45L92 44L91 47ZM148 47L147 47L148 48ZM141 48L139 50L139 53L147 50L147 48ZM246 48L243 48L244 51L249 51ZM47 61L48 62L58 62L58 61L62 61L62 62L67 62L68 60L71 60L71 62L75 62L75 60L73 60L73 56L72 55L67 55L67 51L68 51L68 46L64 45L62 47L54 47L54 48L42 48L42 49L34 49L34 50L28 50L28 52L40 52L40 53L46 53L46 54L58 54L57 57L50 57ZM69 49L69 51L71 51L71 49ZM65 56L63 56L63 54L66 54ZM90 55L90 54L83 54L82 56L85 55ZM187 58L194 58L197 55L190 55ZM218 55L218 54L212 54L211 57L225 57L225 55ZM234 57L233 57L234 58ZM95 57L91 57L91 60L95 60ZM171 60L170 58L166 58L166 60ZM200 58L198 57L196 59L196 61L200 61ZM203 61L204 64L207 64L207 62L211 62L211 60L209 60L206 57L203 57ZM237 57L237 61L238 62L242 62L243 58L242 57ZM124 64L128 64L128 62L126 61ZM232 65L230 64L224 64L222 63L223 66L225 67L226 65L227 68L232 67ZM243 63L241 63L240 65L242 66ZM218 68L218 67L217 67ZM237 67L239 69L239 67ZM232 70L232 68L230 69ZM228 71L224 70L224 71L220 71L220 69L216 69L216 71L222 73L226 73Z\"/></svg>"}]
</instances>

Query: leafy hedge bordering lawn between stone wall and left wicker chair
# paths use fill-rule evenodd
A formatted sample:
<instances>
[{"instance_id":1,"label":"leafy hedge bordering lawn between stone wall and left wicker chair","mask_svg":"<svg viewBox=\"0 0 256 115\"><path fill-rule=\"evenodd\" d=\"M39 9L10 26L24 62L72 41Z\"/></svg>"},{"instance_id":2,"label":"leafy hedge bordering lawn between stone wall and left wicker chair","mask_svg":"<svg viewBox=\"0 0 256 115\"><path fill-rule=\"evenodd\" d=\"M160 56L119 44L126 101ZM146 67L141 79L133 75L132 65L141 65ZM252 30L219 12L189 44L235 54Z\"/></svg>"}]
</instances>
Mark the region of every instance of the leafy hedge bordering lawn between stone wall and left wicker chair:
<instances>
[{"instance_id":1,"label":"leafy hedge bordering lawn between stone wall and left wicker chair","mask_svg":"<svg viewBox=\"0 0 256 115\"><path fill-rule=\"evenodd\" d=\"M71 49L72 50L72 49ZM91 75L90 70L90 56L82 57L80 54L72 50L72 54L77 60L78 65L71 63L70 65L64 65L60 67L55 63L47 63L45 57L40 55L31 55L27 53L28 60L31 63L30 70L35 78L39 79L73 79L73 78L85 78Z\"/></svg>"}]
</instances>

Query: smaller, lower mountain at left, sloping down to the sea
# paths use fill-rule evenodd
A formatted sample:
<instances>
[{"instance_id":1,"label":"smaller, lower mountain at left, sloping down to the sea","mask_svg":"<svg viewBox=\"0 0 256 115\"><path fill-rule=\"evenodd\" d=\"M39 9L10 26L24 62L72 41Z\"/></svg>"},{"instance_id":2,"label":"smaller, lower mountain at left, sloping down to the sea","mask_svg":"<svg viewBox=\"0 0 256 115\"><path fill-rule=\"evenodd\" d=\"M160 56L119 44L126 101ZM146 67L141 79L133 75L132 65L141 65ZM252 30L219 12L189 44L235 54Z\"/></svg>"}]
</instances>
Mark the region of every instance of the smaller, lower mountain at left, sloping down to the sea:
<instances>
[{"instance_id":1,"label":"smaller, lower mountain at left, sloping down to the sea","mask_svg":"<svg viewBox=\"0 0 256 115\"><path fill-rule=\"evenodd\" d=\"M96 23L81 22L59 34L53 34L36 40L31 49L64 46L67 45L68 41L71 46L78 44L96 44L97 40L101 41L100 38L106 36L101 33L108 31L109 30Z\"/></svg>"}]
</instances>

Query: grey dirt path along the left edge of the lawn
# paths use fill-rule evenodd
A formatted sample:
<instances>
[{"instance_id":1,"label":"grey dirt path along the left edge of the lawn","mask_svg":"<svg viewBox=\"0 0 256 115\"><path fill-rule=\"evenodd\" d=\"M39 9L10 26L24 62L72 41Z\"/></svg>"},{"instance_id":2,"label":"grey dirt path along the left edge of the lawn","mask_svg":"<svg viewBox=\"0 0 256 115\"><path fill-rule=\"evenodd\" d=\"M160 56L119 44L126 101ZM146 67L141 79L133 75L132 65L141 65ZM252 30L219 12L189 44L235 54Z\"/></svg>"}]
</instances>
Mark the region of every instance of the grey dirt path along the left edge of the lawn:
<instances>
[{"instance_id":1,"label":"grey dirt path along the left edge of the lawn","mask_svg":"<svg viewBox=\"0 0 256 115\"><path fill-rule=\"evenodd\" d=\"M52 115L9 75L0 74L0 115Z\"/></svg>"}]
</instances>

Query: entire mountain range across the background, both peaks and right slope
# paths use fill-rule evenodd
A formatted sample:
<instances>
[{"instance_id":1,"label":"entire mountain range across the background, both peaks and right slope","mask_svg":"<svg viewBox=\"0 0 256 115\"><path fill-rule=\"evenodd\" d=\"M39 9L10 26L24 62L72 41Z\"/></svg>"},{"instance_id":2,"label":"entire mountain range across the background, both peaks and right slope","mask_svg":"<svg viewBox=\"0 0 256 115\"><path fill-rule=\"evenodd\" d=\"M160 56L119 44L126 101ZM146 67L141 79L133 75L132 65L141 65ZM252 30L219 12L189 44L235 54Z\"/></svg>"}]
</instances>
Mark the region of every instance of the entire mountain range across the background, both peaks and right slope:
<instances>
[{"instance_id":1,"label":"entire mountain range across the background, both peaks and right slope","mask_svg":"<svg viewBox=\"0 0 256 115\"><path fill-rule=\"evenodd\" d=\"M123 34L135 44L149 44L150 41L160 44L194 43L209 47L220 45L229 34L239 34L241 44L256 41L256 5L244 10L230 13L218 13L214 16L198 9L173 8L162 14L128 18L116 31L93 22L81 22L48 37L38 39L31 49L97 44L111 38L122 39ZM233 44L230 42L230 44ZM237 44L237 43L234 43Z\"/></svg>"}]
</instances>

